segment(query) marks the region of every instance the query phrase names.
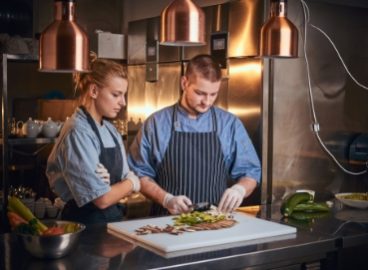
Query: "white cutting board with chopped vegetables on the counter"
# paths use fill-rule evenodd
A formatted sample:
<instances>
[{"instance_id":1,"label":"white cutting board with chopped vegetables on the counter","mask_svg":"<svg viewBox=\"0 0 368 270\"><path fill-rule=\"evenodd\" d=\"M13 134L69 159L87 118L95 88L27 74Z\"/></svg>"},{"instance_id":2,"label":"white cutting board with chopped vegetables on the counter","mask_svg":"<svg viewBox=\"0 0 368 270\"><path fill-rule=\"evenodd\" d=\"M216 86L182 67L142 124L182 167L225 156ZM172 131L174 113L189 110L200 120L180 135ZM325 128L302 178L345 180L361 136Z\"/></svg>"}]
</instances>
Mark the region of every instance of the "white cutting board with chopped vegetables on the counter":
<instances>
[{"instance_id":1,"label":"white cutting board with chopped vegetables on the counter","mask_svg":"<svg viewBox=\"0 0 368 270\"><path fill-rule=\"evenodd\" d=\"M236 223L231 228L184 232L179 235L168 233L156 233L137 235L135 230L146 225L165 227L172 225L173 216L148 218L130 221L108 223L108 231L114 235L136 242L146 248L156 249L162 253L182 251L194 248L209 247L214 245L244 242L265 237L293 234L296 228L267 221L244 213L234 213Z\"/></svg>"}]
</instances>

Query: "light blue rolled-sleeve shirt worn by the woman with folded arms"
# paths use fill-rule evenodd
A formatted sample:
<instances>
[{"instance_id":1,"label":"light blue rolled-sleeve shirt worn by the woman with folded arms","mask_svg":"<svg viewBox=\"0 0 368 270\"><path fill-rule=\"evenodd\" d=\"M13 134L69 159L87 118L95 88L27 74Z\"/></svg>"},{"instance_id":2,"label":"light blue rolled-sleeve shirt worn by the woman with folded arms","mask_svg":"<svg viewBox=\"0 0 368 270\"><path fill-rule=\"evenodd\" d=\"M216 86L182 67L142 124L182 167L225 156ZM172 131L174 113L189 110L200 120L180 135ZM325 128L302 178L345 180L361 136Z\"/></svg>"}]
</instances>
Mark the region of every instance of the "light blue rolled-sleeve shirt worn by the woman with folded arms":
<instances>
[{"instance_id":1,"label":"light blue rolled-sleeve shirt worn by the woman with folded arms","mask_svg":"<svg viewBox=\"0 0 368 270\"><path fill-rule=\"evenodd\" d=\"M123 157L121 179L125 179L129 167L121 135L109 121L96 126L104 147L115 146L109 131L117 138ZM47 161L46 175L52 190L65 202L74 199L79 207L110 191L110 185L95 172L100 153L98 137L78 108L65 122Z\"/></svg>"}]
</instances>

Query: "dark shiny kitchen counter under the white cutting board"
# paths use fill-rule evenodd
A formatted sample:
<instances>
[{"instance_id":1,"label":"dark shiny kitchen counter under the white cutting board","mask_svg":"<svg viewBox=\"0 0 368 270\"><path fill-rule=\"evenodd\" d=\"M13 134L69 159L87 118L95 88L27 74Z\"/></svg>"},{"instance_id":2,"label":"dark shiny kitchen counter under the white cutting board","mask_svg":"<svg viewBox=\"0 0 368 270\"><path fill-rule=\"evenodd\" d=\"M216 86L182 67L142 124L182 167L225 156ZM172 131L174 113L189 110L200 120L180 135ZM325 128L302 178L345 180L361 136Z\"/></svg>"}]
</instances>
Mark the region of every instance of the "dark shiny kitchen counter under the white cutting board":
<instances>
[{"instance_id":1,"label":"dark shiny kitchen counter under the white cutting board","mask_svg":"<svg viewBox=\"0 0 368 270\"><path fill-rule=\"evenodd\" d=\"M263 206L258 217L283 222L278 209ZM341 250L366 245L368 237L366 223L344 222L333 213L310 226L301 224L289 239L268 238L173 258L114 237L104 226L88 228L75 251L58 260L32 258L11 234L3 234L0 269L338 269Z\"/></svg>"}]
</instances>

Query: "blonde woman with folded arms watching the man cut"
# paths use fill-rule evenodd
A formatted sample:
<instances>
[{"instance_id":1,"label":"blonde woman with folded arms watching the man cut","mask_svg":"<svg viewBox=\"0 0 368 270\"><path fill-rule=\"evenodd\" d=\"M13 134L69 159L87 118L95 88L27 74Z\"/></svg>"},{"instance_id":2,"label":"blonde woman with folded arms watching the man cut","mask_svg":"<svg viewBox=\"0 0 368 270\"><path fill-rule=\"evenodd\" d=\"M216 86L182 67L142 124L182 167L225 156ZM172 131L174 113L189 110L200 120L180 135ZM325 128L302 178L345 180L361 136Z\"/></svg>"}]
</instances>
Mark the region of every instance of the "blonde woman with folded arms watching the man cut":
<instances>
[{"instance_id":1,"label":"blonde woman with folded arms watching the man cut","mask_svg":"<svg viewBox=\"0 0 368 270\"><path fill-rule=\"evenodd\" d=\"M66 202L62 219L85 224L121 220L119 200L140 189L121 136L106 120L126 106L126 72L117 62L91 57L91 72L74 75L79 107L64 124L46 169L51 189Z\"/></svg>"}]
</instances>

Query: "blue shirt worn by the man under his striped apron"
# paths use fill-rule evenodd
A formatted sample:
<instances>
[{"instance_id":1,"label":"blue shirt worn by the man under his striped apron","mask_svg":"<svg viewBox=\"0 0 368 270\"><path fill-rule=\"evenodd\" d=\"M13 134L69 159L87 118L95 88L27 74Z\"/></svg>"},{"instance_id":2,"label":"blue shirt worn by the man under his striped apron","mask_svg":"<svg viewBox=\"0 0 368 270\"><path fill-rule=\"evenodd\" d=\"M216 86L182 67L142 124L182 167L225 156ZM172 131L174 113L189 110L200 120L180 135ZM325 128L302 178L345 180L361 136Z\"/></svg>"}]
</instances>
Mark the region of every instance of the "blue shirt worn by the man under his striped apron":
<instances>
[{"instance_id":1,"label":"blue shirt worn by the man under his striped apron","mask_svg":"<svg viewBox=\"0 0 368 270\"><path fill-rule=\"evenodd\" d=\"M209 132L213 130L211 110L192 119L182 107L178 107L177 121L174 123L176 131ZM213 108L217 119L217 135L230 178L237 180L247 176L259 183L260 161L242 122L229 112L217 107ZM157 168L171 138L173 109L174 106L166 107L148 117L132 142L128 162L139 177L156 178Z\"/></svg>"}]
</instances>

